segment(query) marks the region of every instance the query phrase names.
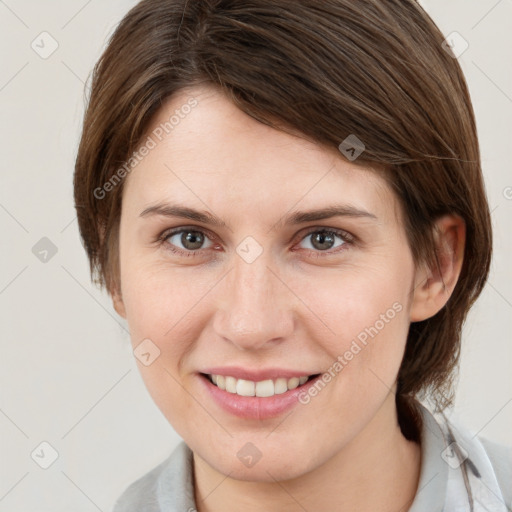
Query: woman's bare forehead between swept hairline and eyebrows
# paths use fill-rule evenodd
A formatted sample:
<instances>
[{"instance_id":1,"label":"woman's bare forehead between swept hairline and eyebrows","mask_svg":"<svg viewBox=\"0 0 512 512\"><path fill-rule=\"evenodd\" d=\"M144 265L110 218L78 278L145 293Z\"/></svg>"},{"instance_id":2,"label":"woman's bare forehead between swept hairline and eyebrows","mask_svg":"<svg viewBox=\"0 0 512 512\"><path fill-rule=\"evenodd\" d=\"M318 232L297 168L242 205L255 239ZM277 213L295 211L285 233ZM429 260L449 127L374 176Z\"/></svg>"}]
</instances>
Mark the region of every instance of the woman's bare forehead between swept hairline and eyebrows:
<instances>
[{"instance_id":1,"label":"woman's bare forehead between swept hairline and eyebrows","mask_svg":"<svg viewBox=\"0 0 512 512\"><path fill-rule=\"evenodd\" d=\"M138 208L186 202L261 216L269 210L283 214L294 207L336 203L381 219L396 208L378 168L349 162L336 148L264 125L216 88L179 91L154 116L143 140L148 137L154 148L127 176L123 193L123 202Z\"/></svg>"}]
</instances>

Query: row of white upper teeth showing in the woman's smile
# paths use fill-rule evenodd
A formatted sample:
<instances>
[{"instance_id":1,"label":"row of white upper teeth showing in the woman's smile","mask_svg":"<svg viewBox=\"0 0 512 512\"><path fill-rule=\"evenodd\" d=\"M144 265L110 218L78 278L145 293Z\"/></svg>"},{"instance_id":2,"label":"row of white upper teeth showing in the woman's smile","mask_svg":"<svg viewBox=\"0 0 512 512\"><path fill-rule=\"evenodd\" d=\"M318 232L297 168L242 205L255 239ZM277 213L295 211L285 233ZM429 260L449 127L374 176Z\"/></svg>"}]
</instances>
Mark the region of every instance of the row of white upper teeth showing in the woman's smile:
<instances>
[{"instance_id":1,"label":"row of white upper teeth showing in the woman's smile","mask_svg":"<svg viewBox=\"0 0 512 512\"><path fill-rule=\"evenodd\" d=\"M290 389L295 389L298 386L305 384L309 376L292 377L286 379L280 377L275 380L261 380L253 382L252 380L235 379L235 377L224 375L210 375L212 382L220 389L228 393L237 394L240 396L259 396L269 397L286 393Z\"/></svg>"}]
</instances>

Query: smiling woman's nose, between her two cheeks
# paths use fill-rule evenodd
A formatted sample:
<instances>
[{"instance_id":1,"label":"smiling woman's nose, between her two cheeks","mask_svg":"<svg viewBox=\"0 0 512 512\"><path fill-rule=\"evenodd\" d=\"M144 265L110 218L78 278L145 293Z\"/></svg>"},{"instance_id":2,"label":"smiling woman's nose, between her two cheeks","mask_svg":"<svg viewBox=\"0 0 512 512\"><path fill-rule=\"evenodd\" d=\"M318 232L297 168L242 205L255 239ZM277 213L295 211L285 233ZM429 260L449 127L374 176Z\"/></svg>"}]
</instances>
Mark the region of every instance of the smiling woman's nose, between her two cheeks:
<instances>
[{"instance_id":1,"label":"smiling woman's nose, between her two cheeks","mask_svg":"<svg viewBox=\"0 0 512 512\"><path fill-rule=\"evenodd\" d=\"M291 336L293 292L263 252L248 263L238 255L218 291L215 333L240 350L259 350Z\"/></svg>"}]
</instances>

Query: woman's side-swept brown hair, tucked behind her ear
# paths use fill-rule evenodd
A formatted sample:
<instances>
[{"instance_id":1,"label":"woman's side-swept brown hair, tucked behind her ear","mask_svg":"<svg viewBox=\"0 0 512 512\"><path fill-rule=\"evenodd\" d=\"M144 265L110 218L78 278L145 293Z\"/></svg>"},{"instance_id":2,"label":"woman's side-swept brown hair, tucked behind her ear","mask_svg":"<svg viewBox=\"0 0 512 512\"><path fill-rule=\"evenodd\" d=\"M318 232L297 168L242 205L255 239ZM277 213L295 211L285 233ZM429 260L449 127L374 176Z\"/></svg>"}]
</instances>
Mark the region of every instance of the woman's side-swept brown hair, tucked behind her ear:
<instances>
[{"instance_id":1,"label":"woman's side-swept brown hair, tucked behind her ear","mask_svg":"<svg viewBox=\"0 0 512 512\"><path fill-rule=\"evenodd\" d=\"M91 277L117 289L122 185L101 189L178 90L218 86L245 113L338 147L351 134L378 163L405 216L416 263L436 262L435 220L466 223L464 263L446 306L410 326L400 413L430 392L453 402L462 325L487 279L492 234L474 112L457 59L413 0L143 0L93 71L74 190ZM284 127L284 128L283 128ZM404 416L399 414L399 417ZM416 434L405 420L406 436ZM408 430L409 429L409 430Z\"/></svg>"}]
</instances>

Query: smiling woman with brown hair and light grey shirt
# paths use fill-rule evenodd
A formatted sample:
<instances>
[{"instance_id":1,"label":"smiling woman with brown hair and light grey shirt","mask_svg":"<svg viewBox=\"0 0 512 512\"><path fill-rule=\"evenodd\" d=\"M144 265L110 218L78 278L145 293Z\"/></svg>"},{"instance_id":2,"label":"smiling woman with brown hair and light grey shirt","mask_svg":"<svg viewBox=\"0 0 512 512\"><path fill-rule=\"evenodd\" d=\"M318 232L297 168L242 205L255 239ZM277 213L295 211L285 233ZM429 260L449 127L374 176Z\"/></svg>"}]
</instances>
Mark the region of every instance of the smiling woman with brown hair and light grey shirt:
<instances>
[{"instance_id":1,"label":"smiling woman with brown hair and light grey shirt","mask_svg":"<svg viewBox=\"0 0 512 512\"><path fill-rule=\"evenodd\" d=\"M451 405L491 223L474 114L412 0L145 0L75 169L93 279L183 442L121 511L499 510Z\"/></svg>"}]
</instances>

